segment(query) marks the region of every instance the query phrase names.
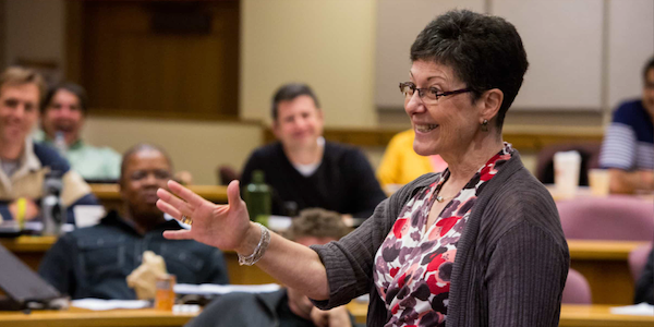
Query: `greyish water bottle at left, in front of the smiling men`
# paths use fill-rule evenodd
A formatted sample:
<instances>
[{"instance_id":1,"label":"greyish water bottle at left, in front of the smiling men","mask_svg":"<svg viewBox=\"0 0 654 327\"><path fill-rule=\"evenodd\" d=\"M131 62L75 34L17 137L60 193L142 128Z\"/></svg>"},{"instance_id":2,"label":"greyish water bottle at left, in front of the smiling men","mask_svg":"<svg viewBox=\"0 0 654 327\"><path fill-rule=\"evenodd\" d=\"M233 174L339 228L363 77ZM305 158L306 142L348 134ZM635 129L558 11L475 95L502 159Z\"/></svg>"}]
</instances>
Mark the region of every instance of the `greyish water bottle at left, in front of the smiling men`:
<instances>
[{"instance_id":1,"label":"greyish water bottle at left, in front of the smiling men","mask_svg":"<svg viewBox=\"0 0 654 327\"><path fill-rule=\"evenodd\" d=\"M50 171L44 180L44 197L41 198L41 217L44 235L59 235L61 226L66 221L66 211L61 202L63 173L59 170Z\"/></svg>"}]
</instances>

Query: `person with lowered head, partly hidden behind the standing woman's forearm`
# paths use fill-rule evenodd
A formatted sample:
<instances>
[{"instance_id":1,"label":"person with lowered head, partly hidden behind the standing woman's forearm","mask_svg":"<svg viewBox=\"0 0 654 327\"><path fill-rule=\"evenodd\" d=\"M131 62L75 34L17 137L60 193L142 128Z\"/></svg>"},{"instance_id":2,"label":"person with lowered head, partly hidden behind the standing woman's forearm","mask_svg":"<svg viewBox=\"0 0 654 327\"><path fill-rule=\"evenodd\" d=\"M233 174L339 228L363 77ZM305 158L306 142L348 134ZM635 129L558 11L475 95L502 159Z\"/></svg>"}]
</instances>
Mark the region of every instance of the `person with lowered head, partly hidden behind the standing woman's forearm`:
<instances>
[{"instance_id":1,"label":"person with lowered head, partly hidden behind the standing woman's forearm","mask_svg":"<svg viewBox=\"0 0 654 327\"><path fill-rule=\"evenodd\" d=\"M303 245L326 244L348 233L340 216L318 208L302 210L293 219L287 238ZM229 293L214 300L186 327L256 326L313 327L351 326L344 306L316 308L306 295L287 288L270 293Z\"/></svg>"}]
</instances>

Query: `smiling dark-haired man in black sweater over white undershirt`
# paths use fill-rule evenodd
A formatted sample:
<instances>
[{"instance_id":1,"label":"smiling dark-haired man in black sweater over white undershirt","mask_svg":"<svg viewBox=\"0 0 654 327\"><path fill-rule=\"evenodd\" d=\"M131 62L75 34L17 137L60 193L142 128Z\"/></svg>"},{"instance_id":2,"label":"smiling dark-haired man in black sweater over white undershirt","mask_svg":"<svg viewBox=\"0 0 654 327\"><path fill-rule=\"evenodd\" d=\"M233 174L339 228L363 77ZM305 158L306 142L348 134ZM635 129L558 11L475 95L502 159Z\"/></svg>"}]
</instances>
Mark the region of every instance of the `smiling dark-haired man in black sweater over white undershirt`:
<instances>
[{"instance_id":1,"label":"smiling dark-haired man in black sweater over white undershirt","mask_svg":"<svg viewBox=\"0 0 654 327\"><path fill-rule=\"evenodd\" d=\"M272 132L278 142L254 150L241 185L254 170L265 173L274 189L272 214L292 215L319 207L367 218L386 198L366 157L356 148L323 138L323 111L305 84L281 86L272 98ZM292 205L294 203L294 205Z\"/></svg>"}]
</instances>

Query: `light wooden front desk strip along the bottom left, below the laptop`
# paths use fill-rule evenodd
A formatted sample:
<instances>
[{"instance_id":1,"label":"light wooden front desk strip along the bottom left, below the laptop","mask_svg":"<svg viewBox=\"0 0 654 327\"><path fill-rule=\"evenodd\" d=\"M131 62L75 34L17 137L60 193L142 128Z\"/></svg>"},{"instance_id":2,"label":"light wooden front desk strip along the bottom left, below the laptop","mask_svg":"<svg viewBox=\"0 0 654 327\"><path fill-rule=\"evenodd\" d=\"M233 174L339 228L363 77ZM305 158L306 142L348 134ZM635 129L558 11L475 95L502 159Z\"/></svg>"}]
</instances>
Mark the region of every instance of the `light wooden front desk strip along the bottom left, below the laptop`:
<instances>
[{"instance_id":1,"label":"light wooden front desk strip along the bottom left, below the laptop","mask_svg":"<svg viewBox=\"0 0 654 327\"><path fill-rule=\"evenodd\" d=\"M71 307L68 311L0 312L2 327L131 327L184 326L197 314L143 310L88 311Z\"/></svg>"}]
</instances>

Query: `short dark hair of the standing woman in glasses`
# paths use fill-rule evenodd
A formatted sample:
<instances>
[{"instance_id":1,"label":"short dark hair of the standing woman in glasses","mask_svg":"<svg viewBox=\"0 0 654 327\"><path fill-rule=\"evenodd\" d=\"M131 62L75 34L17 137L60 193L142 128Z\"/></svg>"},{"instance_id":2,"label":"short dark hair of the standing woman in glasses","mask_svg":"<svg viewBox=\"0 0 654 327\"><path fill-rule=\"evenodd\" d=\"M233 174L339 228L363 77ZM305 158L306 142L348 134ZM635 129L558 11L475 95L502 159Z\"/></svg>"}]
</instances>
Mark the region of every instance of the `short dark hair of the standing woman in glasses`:
<instances>
[{"instance_id":1,"label":"short dark hair of the standing woman in glasses","mask_svg":"<svg viewBox=\"0 0 654 327\"><path fill-rule=\"evenodd\" d=\"M472 89L472 100L499 88L504 93L497 113L500 129L529 65L522 39L511 23L469 10L449 11L427 24L411 46L411 61L417 60L452 68Z\"/></svg>"}]
</instances>

